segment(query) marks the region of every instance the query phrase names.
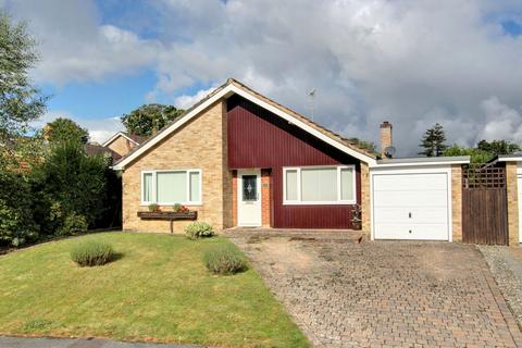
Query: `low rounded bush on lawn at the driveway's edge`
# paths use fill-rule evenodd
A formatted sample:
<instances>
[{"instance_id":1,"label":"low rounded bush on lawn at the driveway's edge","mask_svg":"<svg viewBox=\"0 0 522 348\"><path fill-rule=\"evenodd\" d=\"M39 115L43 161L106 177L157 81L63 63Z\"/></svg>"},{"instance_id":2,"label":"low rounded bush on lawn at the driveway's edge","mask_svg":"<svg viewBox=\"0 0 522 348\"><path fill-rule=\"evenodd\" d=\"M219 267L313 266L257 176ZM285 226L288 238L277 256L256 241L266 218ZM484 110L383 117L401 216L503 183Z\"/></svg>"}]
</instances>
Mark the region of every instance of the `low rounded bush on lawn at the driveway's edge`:
<instances>
[{"instance_id":1,"label":"low rounded bush on lawn at the driveway's edge","mask_svg":"<svg viewBox=\"0 0 522 348\"><path fill-rule=\"evenodd\" d=\"M231 245L214 246L203 254L203 262L215 274L236 274L248 270L245 257Z\"/></svg>"}]
</instances>

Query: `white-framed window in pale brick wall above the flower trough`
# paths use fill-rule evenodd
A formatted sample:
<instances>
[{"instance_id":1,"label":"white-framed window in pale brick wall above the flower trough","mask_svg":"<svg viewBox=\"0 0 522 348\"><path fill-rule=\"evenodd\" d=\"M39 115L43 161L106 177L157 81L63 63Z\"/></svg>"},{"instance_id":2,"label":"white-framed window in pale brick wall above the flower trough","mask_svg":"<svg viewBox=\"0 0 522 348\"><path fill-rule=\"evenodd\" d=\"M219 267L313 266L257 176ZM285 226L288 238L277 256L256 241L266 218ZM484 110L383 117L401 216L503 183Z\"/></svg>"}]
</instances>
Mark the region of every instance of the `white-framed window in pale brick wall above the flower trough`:
<instances>
[{"instance_id":1,"label":"white-framed window in pale brick wall above the flower trough","mask_svg":"<svg viewBox=\"0 0 522 348\"><path fill-rule=\"evenodd\" d=\"M141 204L200 204L201 171L141 172Z\"/></svg>"}]
</instances>

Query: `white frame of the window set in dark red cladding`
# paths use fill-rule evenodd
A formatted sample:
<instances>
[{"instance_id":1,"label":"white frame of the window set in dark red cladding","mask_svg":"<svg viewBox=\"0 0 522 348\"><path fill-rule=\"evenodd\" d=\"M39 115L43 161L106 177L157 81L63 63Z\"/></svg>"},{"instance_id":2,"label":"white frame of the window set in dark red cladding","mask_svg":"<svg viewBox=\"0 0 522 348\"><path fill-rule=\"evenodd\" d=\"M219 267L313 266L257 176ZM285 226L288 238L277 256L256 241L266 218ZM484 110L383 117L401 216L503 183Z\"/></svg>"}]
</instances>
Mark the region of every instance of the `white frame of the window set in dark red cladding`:
<instances>
[{"instance_id":1,"label":"white frame of the window set in dark red cladding","mask_svg":"<svg viewBox=\"0 0 522 348\"><path fill-rule=\"evenodd\" d=\"M337 200L335 201L302 201L301 200L301 170L313 169L336 169L337 170ZM340 171L349 169L352 171L352 188L353 199L341 200L341 187L340 187ZM297 200L286 199L286 172L297 171ZM285 166L283 167L283 206L340 206L340 204L356 204L357 203L357 181L356 181L356 165L313 165L313 166Z\"/></svg>"}]
</instances>

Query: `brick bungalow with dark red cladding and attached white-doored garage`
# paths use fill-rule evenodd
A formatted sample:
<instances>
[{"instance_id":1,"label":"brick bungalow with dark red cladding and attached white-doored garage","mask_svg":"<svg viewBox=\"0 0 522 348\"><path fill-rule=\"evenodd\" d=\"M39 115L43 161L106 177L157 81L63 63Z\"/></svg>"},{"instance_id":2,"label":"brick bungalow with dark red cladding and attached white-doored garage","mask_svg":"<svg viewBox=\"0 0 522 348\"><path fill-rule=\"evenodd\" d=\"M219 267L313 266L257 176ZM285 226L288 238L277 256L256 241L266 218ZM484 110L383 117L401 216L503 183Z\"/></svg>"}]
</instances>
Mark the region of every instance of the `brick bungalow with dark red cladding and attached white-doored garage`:
<instances>
[{"instance_id":1,"label":"brick bungalow with dark red cladding and attached white-doored garage","mask_svg":"<svg viewBox=\"0 0 522 348\"><path fill-rule=\"evenodd\" d=\"M381 142L389 151L389 123ZM182 203L217 229L349 229L360 215L372 238L459 240L463 163L378 159L228 79L113 167L122 172L124 229L167 232L167 221L138 212Z\"/></svg>"}]
</instances>

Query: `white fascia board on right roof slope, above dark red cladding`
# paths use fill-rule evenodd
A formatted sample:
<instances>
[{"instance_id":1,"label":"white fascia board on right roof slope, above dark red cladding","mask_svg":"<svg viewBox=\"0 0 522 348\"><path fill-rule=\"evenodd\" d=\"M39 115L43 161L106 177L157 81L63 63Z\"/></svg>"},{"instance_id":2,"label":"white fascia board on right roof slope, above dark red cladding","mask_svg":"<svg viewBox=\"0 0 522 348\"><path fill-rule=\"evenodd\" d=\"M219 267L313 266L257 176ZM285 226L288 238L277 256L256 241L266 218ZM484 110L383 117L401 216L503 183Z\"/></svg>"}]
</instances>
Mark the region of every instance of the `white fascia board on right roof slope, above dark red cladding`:
<instances>
[{"instance_id":1,"label":"white fascia board on right roof slope, above dark red cladding","mask_svg":"<svg viewBox=\"0 0 522 348\"><path fill-rule=\"evenodd\" d=\"M332 139L331 137L324 135L323 133L319 132L318 129L309 126L308 124L306 124L304 122L294 117L293 115L279 110L278 108L275 108L274 105L257 98L256 96L252 96L251 94L249 94L248 91L241 89L241 88L238 88L234 85L231 85L231 90L234 91L236 95L239 95L241 96L243 98L245 99L248 99L250 100L251 102L254 102L257 103L258 105L260 105L261 108L263 109L266 109L269 110L270 112L278 115L279 117L288 121L289 123L298 126L299 128L310 133L311 135L313 135L314 137L323 140L324 142L333 146L334 148L337 148L339 150L341 150L343 152L362 161L362 162L365 162L369 164L369 166L373 166L373 165L376 165L377 161L369 156L364 156L349 147L347 147L346 145L344 145L343 142L339 142L335 139Z\"/></svg>"}]
</instances>

